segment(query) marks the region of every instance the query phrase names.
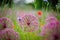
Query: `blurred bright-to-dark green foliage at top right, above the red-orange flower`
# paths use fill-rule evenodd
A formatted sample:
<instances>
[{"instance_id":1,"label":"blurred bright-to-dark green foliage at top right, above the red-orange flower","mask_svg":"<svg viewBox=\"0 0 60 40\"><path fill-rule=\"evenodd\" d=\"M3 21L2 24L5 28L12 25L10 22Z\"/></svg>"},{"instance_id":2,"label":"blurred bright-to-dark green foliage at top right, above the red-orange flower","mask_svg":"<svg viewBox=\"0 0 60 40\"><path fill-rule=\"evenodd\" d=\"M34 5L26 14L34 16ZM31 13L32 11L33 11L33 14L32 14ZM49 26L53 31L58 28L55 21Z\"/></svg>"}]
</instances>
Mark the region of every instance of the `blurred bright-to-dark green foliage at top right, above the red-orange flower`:
<instances>
[{"instance_id":1,"label":"blurred bright-to-dark green foliage at top right, above the red-orange flower","mask_svg":"<svg viewBox=\"0 0 60 40\"><path fill-rule=\"evenodd\" d=\"M58 0L35 0L34 5L36 9L53 9L56 10L56 5L58 4Z\"/></svg>"}]
</instances>

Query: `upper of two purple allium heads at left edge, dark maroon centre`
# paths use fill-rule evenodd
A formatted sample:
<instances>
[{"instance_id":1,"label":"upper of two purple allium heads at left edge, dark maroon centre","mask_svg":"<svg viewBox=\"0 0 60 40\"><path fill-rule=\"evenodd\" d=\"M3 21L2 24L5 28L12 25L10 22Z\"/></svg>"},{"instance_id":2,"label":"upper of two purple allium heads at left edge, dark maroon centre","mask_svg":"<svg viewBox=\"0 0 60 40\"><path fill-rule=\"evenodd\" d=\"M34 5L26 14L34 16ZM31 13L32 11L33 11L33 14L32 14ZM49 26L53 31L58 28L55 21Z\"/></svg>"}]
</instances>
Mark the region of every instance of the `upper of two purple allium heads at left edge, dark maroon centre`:
<instances>
[{"instance_id":1,"label":"upper of two purple allium heads at left edge, dark maroon centre","mask_svg":"<svg viewBox=\"0 0 60 40\"><path fill-rule=\"evenodd\" d=\"M4 28L13 28L13 23L9 18L2 17L0 18L0 30Z\"/></svg>"}]
</instances>

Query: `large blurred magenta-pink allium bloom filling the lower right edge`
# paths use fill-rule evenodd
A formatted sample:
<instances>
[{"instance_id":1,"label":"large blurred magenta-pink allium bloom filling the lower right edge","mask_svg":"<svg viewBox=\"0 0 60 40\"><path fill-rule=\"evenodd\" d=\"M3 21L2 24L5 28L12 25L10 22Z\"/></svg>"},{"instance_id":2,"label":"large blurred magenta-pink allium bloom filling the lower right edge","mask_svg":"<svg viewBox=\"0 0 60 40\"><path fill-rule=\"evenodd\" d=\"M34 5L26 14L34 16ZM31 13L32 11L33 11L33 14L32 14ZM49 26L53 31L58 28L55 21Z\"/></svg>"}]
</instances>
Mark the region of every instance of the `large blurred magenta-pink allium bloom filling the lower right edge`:
<instances>
[{"instance_id":1,"label":"large blurred magenta-pink allium bloom filling the lower right edge","mask_svg":"<svg viewBox=\"0 0 60 40\"><path fill-rule=\"evenodd\" d=\"M42 28L40 35L46 36L47 40L60 40L59 21L55 17L50 17L48 21L47 24Z\"/></svg>"}]
</instances>

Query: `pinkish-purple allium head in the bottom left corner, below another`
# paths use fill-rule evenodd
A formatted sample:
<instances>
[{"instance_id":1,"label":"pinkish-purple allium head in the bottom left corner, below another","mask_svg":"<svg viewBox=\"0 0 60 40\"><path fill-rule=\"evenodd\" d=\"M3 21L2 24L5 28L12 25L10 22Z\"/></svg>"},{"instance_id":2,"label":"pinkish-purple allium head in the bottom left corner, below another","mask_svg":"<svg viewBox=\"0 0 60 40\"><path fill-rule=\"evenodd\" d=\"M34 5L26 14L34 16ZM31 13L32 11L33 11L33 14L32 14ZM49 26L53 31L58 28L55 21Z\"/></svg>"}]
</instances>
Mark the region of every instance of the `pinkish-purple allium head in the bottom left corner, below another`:
<instances>
[{"instance_id":1,"label":"pinkish-purple allium head in the bottom left corner, below another","mask_svg":"<svg viewBox=\"0 0 60 40\"><path fill-rule=\"evenodd\" d=\"M0 30L0 40L20 40L19 34L11 28Z\"/></svg>"}]
</instances>

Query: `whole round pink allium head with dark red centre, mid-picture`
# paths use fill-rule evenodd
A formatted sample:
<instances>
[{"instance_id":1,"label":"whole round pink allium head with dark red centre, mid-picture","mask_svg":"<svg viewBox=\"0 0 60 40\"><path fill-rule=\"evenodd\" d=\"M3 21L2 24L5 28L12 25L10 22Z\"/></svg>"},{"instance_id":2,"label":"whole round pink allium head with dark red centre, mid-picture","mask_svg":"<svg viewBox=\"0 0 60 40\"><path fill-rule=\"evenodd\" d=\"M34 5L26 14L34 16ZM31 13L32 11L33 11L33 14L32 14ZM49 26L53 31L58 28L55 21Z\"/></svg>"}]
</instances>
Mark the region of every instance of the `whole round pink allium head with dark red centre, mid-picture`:
<instances>
[{"instance_id":1,"label":"whole round pink allium head with dark red centre, mid-picture","mask_svg":"<svg viewBox=\"0 0 60 40\"><path fill-rule=\"evenodd\" d=\"M24 31L33 32L38 30L38 19L34 15L25 14L21 18L19 23Z\"/></svg>"}]
</instances>

